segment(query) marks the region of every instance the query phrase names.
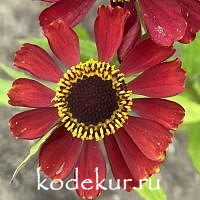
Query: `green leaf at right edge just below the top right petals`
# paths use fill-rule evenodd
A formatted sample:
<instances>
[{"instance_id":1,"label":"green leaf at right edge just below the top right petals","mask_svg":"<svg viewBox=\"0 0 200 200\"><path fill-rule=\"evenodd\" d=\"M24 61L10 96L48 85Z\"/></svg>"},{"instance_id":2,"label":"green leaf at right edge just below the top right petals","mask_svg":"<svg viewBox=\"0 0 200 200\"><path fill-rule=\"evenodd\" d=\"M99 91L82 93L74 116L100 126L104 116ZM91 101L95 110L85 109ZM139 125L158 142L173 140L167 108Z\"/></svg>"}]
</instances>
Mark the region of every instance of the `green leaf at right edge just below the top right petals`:
<instances>
[{"instance_id":1,"label":"green leaf at right edge just below the top right petals","mask_svg":"<svg viewBox=\"0 0 200 200\"><path fill-rule=\"evenodd\" d=\"M200 33L197 34L197 38L190 44L180 43L179 48L183 67L188 75L196 76L197 74L200 74Z\"/></svg>"}]
</instances>

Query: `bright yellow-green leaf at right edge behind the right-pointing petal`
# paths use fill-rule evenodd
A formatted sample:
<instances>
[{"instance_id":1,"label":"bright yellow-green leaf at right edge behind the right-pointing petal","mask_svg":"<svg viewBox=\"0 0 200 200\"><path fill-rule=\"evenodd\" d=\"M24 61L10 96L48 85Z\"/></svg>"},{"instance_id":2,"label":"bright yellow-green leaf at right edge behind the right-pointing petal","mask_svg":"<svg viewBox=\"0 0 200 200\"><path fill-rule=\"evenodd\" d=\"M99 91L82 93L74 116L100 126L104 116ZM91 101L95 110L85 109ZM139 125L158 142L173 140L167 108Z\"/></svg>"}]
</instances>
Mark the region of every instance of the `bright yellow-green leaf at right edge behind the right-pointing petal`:
<instances>
[{"instance_id":1,"label":"bright yellow-green leaf at right edge behind the right-pointing petal","mask_svg":"<svg viewBox=\"0 0 200 200\"><path fill-rule=\"evenodd\" d=\"M200 121L200 104L194 102L186 96L175 96L169 100L179 103L185 109L184 123L194 123Z\"/></svg>"}]
</instances>

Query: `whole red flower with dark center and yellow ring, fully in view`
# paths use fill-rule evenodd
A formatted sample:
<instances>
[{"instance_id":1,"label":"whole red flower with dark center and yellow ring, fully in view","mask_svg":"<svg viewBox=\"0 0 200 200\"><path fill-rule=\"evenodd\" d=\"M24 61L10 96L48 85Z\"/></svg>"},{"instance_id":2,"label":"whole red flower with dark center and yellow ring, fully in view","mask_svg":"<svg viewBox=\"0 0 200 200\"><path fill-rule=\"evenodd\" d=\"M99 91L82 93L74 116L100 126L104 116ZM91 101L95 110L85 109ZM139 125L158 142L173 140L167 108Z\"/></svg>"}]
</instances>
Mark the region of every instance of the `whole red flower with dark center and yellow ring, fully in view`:
<instances>
[{"instance_id":1,"label":"whole red flower with dark center and yellow ring, fully in view","mask_svg":"<svg viewBox=\"0 0 200 200\"><path fill-rule=\"evenodd\" d=\"M52 127L43 144L39 166L51 179L66 179L78 167L82 198L100 195L99 180L106 178L106 163L99 147L103 139L116 179L132 179L127 190L138 186L139 179L156 173L172 141L171 131L182 122L184 109L161 98L183 91L185 72L179 60L166 62L172 47L144 40L125 56L119 69L109 62L120 46L129 13L120 7L102 6L95 21L98 61L80 63L76 33L63 20L44 27L51 50L64 65L64 74L40 47L24 44L17 51L14 65L45 81L57 82L56 92L31 79L18 79L8 96L15 106L33 108L10 119L13 135L36 139ZM125 84L125 76L139 75ZM132 94L149 98L135 98ZM132 111L131 111L132 110ZM131 112L130 112L131 111ZM84 190L80 183L91 179L94 186Z\"/></svg>"}]
</instances>

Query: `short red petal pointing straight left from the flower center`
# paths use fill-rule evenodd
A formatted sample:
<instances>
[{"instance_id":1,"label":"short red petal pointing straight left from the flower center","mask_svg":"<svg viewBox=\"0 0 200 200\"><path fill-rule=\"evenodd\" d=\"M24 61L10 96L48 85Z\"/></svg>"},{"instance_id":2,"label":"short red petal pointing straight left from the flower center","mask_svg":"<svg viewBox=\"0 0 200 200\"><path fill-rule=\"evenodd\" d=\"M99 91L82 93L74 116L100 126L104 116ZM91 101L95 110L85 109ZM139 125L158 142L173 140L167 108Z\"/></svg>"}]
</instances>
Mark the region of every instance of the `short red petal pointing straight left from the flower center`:
<instances>
[{"instance_id":1,"label":"short red petal pointing straight left from the flower center","mask_svg":"<svg viewBox=\"0 0 200 200\"><path fill-rule=\"evenodd\" d=\"M8 96L13 106L39 108L51 106L55 92L37 81L20 78L13 82Z\"/></svg>"}]
</instances>

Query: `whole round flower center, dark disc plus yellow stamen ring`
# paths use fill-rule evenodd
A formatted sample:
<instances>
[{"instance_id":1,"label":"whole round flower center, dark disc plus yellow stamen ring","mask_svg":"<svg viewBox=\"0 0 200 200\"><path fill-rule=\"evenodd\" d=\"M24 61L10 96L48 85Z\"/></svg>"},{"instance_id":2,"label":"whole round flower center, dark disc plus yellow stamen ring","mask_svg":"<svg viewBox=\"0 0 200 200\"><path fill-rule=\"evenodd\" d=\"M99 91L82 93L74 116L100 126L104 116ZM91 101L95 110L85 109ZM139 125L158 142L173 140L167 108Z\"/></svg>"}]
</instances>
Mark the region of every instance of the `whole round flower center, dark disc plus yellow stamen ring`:
<instances>
[{"instance_id":1,"label":"whole round flower center, dark disc plus yellow stamen ring","mask_svg":"<svg viewBox=\"0 0 200 200\"><path fill-rule=\"evenodd\" d=\"M98 141L114 134L128 119L132 92L115 66L91 59L64 73L54 101L73 137Z\"/></svg>"}]
</instances>

